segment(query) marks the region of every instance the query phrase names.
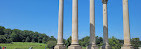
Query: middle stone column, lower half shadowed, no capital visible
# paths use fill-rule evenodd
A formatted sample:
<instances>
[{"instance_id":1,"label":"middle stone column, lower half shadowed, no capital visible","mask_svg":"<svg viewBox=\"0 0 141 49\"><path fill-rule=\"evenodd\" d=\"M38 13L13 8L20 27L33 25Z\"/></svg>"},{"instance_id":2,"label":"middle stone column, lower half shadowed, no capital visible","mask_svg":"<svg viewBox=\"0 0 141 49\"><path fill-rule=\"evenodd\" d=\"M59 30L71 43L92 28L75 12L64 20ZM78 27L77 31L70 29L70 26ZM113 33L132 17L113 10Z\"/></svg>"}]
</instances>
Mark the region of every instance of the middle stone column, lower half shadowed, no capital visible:
<instances>
[{"instance_id":1,"label":"middle stone column, lower half shadowed, no capital visible","mask_svg":"<svg viewBox=\"0 0 141 49\"><path fill-rule=\"evenodd\" d=\"M95 4L90 0L90 43L87 49L98 49L95 38Z\"/></svg>"}]
</instances>

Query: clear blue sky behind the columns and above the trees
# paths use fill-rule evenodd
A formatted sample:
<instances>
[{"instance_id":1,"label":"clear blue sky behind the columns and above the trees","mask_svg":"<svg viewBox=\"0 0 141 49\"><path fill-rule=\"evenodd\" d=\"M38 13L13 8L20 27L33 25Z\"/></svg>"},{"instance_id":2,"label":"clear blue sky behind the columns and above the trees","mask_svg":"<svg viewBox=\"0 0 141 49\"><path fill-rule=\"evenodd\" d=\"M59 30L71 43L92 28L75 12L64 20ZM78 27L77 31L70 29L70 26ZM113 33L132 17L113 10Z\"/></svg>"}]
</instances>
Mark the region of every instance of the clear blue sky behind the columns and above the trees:
<instances>
[{"instance_id":1,"label":"clear blue sky behind the columns and above the trees","mask_svg":"<svg viewBox=\"0 0 141 49\"><path fill-rule=\"evenodd\" d=\"M59 0L0 0L0 26L57 37ZM141 0L129 0L131 38L141 39ZM103 37L103 6L95 0L96 36ZM122 0L108 1L109 38L123 39ZM72 0L64 0L64 38L72 32ZM79 39L89 36L89 0L78 0Z\"/></svg>"}]
</instances>

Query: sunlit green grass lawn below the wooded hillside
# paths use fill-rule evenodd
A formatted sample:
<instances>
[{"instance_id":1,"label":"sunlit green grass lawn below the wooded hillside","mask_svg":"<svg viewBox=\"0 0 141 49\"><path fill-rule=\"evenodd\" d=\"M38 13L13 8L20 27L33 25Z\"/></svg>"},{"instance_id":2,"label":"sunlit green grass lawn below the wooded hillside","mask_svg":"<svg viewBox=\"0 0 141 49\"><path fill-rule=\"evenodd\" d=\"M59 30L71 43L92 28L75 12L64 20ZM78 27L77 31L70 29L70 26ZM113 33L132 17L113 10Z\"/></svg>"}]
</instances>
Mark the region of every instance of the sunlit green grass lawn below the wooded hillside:
<instances>
[{"instance_id":1,"label":"sunlit green grass lawn below the wooded hillside","mask_svg":"<svg viewBox=\"0 0 141 49\"><path fill-rule=\"evenodd\" d=\"M31 42L13 42L12 44L0 44L0 46L6 46L7 49L45 49L46 44L43 43L31 43Z\"/></svg>"}]
</instances>

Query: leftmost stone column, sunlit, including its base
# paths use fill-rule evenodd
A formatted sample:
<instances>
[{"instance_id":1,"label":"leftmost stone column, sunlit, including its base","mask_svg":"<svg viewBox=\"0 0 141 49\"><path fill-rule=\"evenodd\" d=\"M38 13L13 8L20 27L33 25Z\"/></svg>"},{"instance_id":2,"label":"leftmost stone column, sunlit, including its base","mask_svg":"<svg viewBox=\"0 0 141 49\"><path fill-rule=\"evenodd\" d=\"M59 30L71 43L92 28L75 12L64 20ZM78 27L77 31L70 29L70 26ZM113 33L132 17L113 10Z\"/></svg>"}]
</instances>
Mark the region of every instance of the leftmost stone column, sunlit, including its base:
<instances>
[{"instance_id":1,"label":"leftmost stone column, sunlit, including its base","mask_svg":"<svg viewBox=\"0 0 141 49\"><path fill-rule=\"evenodd\" d=\"M59 0L58 40L57 45L54 47L54 49L66 49L63 44L63 11L64 0Z\"/></svg>"}]
</instances>

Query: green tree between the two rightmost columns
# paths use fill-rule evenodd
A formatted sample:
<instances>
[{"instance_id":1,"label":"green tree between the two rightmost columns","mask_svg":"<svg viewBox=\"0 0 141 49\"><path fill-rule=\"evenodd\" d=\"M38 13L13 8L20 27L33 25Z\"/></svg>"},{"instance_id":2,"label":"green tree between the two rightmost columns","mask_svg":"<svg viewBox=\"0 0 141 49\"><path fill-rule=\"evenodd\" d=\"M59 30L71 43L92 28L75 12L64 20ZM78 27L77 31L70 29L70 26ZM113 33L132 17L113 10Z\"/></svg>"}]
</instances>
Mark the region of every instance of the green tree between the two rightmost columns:
<instances>
[{"instance_id":1,"label":"green tree between the two rightmost columns","mask_svg":"<svg viewBox=\"0 0 141 49\"><path fill-rule=\"evenodd\" d=\"M119 40L115 37L112 37L109 39L109 44L112 47L112 49L120 49L121 44L119 43Z\"/></svg>"}]
</instances>

